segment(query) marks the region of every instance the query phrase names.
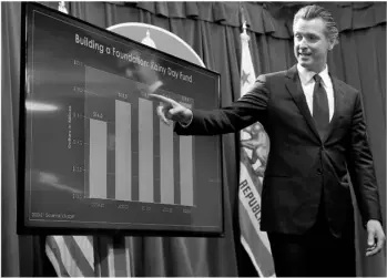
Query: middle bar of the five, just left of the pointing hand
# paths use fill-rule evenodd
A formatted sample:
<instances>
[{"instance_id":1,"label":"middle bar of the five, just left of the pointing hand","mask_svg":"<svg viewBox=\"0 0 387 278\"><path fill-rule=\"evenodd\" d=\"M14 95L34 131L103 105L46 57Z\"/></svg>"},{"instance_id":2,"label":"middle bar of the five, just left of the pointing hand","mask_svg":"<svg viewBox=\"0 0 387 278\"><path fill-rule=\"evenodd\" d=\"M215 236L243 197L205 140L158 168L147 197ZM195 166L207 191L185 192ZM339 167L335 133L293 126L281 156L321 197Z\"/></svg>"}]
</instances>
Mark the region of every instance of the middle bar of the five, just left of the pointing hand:
<instances>
[{"instance_id":1,"label":"middle bar of the five, just left of the pointing hand","mask_svg":"<svg viewBox=\"0 0 387 278\"><path fill-rule=\"evenodd\" d=\"M140 202L153 202L153 102L139 99Z\"/></svg>"}]
</instances>

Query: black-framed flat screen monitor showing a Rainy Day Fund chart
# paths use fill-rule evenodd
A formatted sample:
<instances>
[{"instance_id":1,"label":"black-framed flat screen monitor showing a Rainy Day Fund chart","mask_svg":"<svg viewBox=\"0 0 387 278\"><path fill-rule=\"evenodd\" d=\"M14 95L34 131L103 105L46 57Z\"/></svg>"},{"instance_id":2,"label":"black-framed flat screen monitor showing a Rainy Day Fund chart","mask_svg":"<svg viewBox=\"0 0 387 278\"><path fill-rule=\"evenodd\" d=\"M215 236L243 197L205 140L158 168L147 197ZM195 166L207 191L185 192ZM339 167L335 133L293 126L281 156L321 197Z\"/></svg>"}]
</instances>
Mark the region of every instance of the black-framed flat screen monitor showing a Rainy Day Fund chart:
<instances>
[{"instance_id":1,"label":"black-framed flat screen monitor showing a Rainy Day Fund chart","mask_svg":"<svg viewBox=\"0 0 387 278\"><path fill-rule=\"evenodd\" d=\"M220 74L22 3L19 234L222 236L221 136L179 136L149 93L220 107Z\"/></svg>"}]
</instances>

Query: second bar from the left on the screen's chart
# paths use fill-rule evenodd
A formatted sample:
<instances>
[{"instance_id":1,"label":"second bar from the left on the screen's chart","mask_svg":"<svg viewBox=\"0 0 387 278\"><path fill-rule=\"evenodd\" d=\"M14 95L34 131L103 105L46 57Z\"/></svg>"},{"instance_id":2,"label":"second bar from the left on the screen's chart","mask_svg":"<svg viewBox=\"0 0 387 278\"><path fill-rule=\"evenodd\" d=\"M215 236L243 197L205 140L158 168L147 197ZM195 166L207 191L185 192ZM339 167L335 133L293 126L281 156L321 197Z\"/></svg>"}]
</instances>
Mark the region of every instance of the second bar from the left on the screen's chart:
<instances>
[{"instance_id":1,"label":"second bar from the left on the screen's chart","mask_svg":"<svg viewBox=\"0 0 387 278\"><path fill-rule=\"evenodd\" d=\"M115 199L132 199L131 104L115 101Z\"/></svg>"}]
</instances>

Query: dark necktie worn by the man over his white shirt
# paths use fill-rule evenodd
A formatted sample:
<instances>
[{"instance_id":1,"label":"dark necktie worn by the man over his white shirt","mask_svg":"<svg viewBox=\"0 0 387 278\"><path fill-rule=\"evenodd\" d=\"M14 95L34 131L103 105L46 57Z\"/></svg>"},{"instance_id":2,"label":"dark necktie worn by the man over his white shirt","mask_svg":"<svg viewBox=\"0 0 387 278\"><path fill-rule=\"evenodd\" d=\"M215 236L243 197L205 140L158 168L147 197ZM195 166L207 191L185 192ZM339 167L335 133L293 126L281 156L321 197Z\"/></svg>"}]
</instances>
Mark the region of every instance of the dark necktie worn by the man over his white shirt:
<instances>
[{"instance_id":1,"label":"dark necktie worn by the man over his white shirt","mask_svg":"<svg viewBox=\"0 0 387 278\"><path fill-rule=\"evenodd\" d=\"M328 96L322 84L322 78L318 74L313 78L316 82L313 90L313 119L316 122L319 136L324 138L329 125Z\"/></svg>"}]
</instances>

